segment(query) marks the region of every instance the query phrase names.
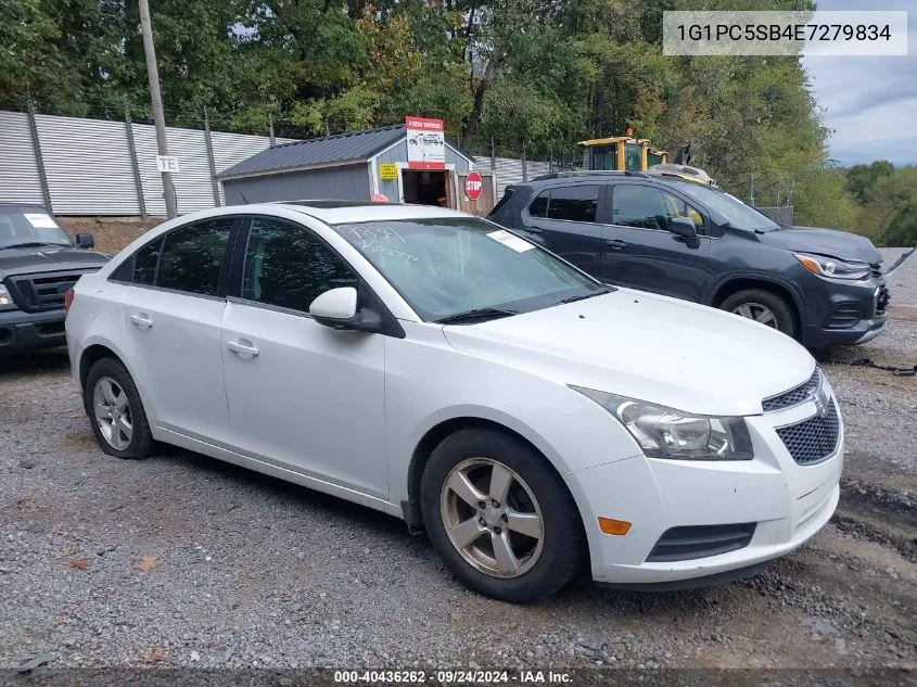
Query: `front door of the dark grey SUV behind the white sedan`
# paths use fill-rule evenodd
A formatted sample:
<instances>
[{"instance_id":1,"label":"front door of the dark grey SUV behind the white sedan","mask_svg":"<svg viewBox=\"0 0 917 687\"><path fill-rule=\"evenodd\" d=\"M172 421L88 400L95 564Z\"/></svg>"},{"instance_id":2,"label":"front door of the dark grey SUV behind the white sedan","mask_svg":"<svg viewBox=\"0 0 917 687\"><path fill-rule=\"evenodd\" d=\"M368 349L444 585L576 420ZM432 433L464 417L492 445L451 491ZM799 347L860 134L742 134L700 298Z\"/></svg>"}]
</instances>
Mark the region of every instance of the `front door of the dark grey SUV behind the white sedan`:
<instances>
[{"instance_id":1,"label":"front door of the dark grey SUV behind the white sedan","mask_svg":"<svg viewBox=\"0 0 917 687\"><path fill-rule=\"evenodd\" d=\"M712 275L706 219L667 189L640 182L611 188L610 224L603 228L601 280L701 302ZM668 230L674 217L688 217L698 230L688 239Z\"/></svg>"}]
</instances>

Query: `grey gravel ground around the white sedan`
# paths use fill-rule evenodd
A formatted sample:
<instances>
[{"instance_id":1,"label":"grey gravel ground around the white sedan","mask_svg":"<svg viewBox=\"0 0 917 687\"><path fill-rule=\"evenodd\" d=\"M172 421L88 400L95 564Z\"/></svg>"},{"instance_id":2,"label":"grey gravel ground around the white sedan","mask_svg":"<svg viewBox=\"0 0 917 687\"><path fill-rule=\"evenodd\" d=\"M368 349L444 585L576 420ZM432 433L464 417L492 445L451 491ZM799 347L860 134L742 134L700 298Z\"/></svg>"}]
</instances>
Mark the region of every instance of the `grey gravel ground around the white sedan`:
<instances>
[{"instance_id":1,"label":"grey gravel ground around the white sedan","mask_svg":"<svg viewBox=\"0 0 917 687\"><path fill-rule=\"evenodd\" d=\"M178 449L110 458L64 356L3 360L0 667L915 667L917 379L848 365L917 364L917 259L890 281L888 333L825 364L848 431L835 520L692 591L485 599L375 511Z\"/></svg>"}]
</instances>

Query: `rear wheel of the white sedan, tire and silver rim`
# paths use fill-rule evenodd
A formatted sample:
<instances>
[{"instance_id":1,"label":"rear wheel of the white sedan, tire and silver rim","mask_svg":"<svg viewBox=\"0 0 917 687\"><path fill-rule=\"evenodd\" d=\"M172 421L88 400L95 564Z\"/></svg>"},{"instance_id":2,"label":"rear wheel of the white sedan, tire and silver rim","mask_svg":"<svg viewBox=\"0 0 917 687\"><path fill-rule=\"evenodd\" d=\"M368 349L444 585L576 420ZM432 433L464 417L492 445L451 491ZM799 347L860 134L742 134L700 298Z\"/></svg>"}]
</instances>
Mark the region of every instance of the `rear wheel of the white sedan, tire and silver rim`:
<instances>
[{"instance_id":1,"label":"rear wheel of the white sedan, tire and silver rim","mask_svg":"<svg viewBox=\"0 0 917 687\"><path fill-rule=\"evenodd\" d=\"M102 358L89 368L82 404L95 441L106 454L141 459L153 451L153 434L140 393L119 360Z\"/></svg>"}]
</instances>

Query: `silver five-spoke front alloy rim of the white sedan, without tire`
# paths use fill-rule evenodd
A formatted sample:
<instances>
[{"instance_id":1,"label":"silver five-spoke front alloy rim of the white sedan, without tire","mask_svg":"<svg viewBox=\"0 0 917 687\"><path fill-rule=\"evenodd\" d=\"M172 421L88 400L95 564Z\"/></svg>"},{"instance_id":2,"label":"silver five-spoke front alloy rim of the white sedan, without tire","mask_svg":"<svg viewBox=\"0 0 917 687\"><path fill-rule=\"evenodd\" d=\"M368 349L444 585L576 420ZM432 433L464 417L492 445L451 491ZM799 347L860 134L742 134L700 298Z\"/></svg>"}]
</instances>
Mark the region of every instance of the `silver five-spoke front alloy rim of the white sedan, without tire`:
<instances>
[{"instance_id":1,"label":"silver five-spoke front alloy rim of the white sedan, without tire","mask_svg":"<svg viewBox=\"0 0 917 687\"><path fill-rule=\"evenodd\" d=\"M470 458L449 472L440 496L449 542L474 569L493 577L525 574L544 549L542 509L513 470Z\"/></svg>"}]
</instances>

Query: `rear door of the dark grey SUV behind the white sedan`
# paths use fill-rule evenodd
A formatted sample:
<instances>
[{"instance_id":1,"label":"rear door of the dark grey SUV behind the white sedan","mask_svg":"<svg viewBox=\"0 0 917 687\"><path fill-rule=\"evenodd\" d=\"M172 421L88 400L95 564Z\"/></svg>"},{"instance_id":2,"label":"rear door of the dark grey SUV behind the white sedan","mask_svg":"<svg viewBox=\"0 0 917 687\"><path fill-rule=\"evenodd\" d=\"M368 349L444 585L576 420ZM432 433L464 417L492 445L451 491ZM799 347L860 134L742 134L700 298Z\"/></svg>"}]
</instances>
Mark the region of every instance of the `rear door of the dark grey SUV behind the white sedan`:
<instances>
[{"instance_id":1,"label":"rear door of the dark grey SUV behind the white sedan","mask_svg":"<svg viewBox=\"0 0 917 687\"><path fill-rule=\"evenodd\" d=\"M523 232L598 278L603 238L598 213L604 189L599 183L569 183L542 191L522 211Z\"/></svg>"}]
</instances>

